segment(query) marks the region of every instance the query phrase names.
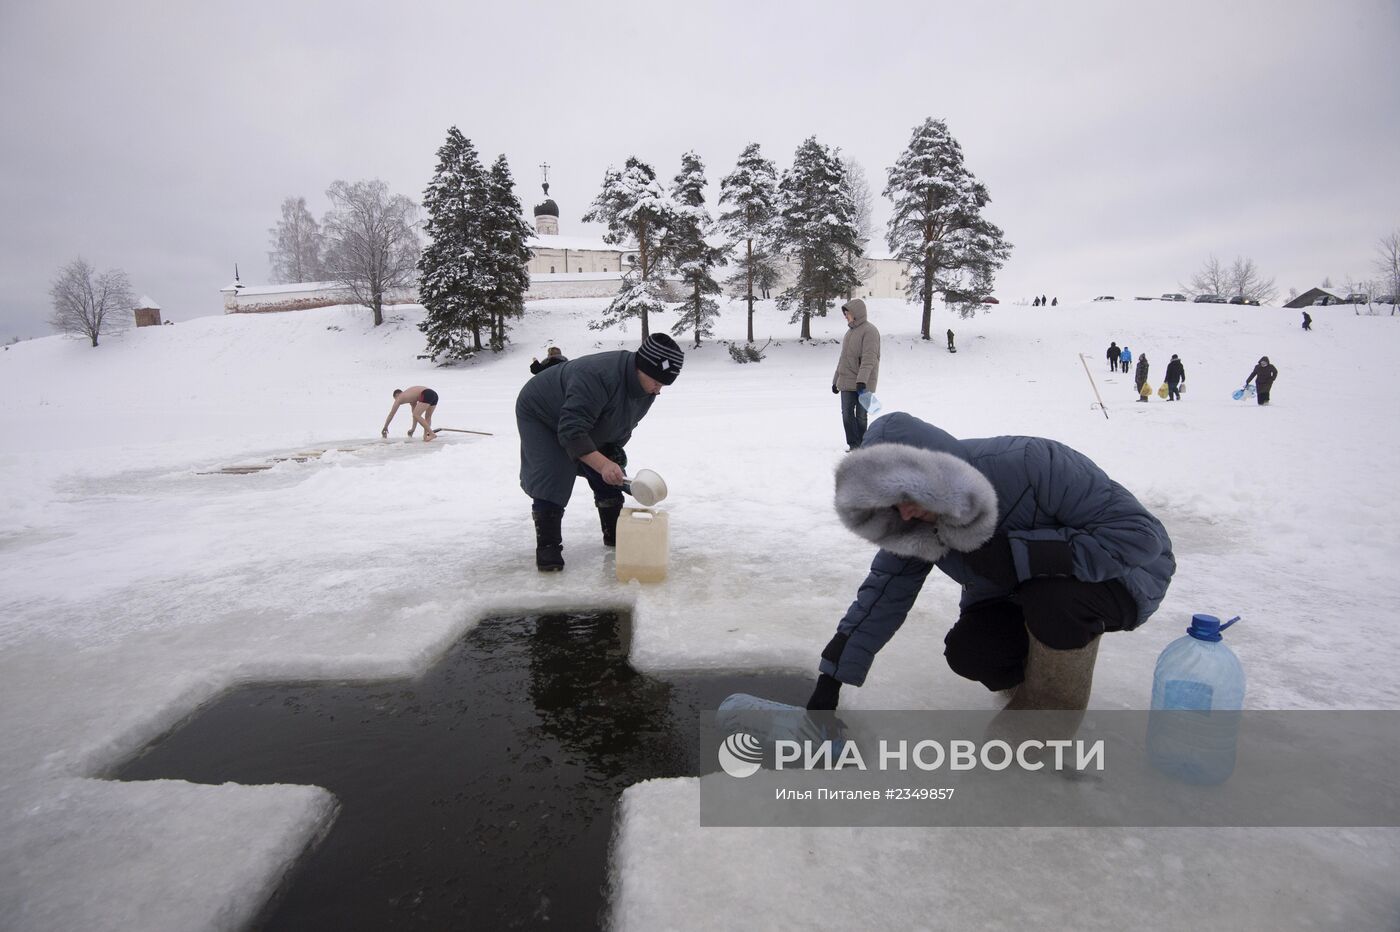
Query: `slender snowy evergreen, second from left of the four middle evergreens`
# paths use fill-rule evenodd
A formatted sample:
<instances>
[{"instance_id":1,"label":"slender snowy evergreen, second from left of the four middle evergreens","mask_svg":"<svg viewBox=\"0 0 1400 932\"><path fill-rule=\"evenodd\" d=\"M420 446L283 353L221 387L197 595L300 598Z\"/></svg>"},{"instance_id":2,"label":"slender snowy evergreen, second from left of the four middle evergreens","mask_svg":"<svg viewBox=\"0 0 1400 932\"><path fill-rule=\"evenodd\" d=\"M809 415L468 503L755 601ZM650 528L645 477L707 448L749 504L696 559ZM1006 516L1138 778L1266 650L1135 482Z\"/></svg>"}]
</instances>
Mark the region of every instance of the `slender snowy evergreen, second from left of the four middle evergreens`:
<instances>
[{"instance_id":1,"label":"slender snowy evergreen, second from left of the four middle evergreens","mask_svg":"<svg viewBox=\"0 0 1400 932\"><path fill-rule=\"evenodd\" d=\"M686 330L694 333L694 346L700 337L714 336L714 319L720 316L720 305L711 295L720 294L720 283L714 280L714 269L724 259L724 249L717 249L704 241L714 221L704 206L704 162L694 153L680 157L680 174L671 188L675 202L675 218L666 231L666 255L680 276L685 299L676 311L680 318L671 327L672 336Z\"/></svg>"}]
</instances>

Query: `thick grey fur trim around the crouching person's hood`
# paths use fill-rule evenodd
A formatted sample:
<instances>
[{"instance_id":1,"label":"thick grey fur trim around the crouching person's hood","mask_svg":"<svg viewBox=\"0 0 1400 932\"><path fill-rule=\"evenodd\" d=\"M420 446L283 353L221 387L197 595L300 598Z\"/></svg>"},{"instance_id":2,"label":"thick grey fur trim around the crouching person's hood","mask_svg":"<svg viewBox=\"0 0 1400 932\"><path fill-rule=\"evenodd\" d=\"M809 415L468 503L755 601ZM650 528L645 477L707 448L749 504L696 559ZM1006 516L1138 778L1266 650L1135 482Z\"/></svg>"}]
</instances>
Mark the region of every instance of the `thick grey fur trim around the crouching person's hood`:
<instances>
[{"instance_id":1,"label":"thick grey fur trim around the crouching person's hood","mask_svg":"<svg viewBox=\"0 0 1400 932\"><path fill-rule=\"evenodd\" d=\"M895 507L902 501L937 514L937 523L900 519ZM837 466L836 514L890 553L938 563L949 550L987 543L997 528L997 491L952 453L876 444L851 451Z\"/></svg>"}]
</instances>

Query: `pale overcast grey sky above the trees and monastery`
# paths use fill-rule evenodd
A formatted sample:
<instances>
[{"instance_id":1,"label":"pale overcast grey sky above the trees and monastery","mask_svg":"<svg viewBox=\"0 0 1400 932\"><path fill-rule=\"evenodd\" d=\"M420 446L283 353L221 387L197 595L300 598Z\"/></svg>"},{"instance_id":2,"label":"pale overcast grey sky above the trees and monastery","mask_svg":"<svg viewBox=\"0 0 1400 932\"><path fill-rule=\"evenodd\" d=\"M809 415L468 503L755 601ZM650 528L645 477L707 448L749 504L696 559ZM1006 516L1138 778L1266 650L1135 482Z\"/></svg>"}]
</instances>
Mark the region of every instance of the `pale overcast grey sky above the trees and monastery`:
<instances>
[{"instance_id":1,"label":"pale overcast grey sky above the trees and monastery","mask_svg":"<svg viewBox=\"0 0 1400 932\"><path fill-rule=\"evenodd\" d=\"M1014 243L997 294L1159 294L1208 253L1282 291L1400 228L1400 0L105 3L0 0L0 341L67 260L185 320L267 277L290 195L417 199L458 126L560 232L629 155L711 181L806 136L872 186L934 116ZM883 231L888 202L879 199Z\"/></svg>"}]
</instances>

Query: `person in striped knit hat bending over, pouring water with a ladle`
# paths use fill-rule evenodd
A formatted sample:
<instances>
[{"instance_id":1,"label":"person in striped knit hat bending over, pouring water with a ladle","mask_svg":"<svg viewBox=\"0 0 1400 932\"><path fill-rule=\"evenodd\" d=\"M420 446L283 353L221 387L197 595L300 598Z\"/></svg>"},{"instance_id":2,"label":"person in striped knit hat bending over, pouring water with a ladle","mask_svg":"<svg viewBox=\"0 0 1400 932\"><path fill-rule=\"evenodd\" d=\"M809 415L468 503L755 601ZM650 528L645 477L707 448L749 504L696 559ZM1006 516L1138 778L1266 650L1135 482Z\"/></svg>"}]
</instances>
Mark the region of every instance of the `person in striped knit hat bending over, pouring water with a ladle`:
<instances>
[{"instance_id":1,"label":"person in striped knit hat bending over, pouring water with a ladle","mask_svg":"<svg viewBox=\"0 0 1400 932\"><path fill-rule=\"evenodd\" d=\"M594 490L603 544L616 544L627 465L623 446L683 362L675 340L652 333L636 353L594 353L525 382L515 399L515 425L521 488L535 500L535 567L540 572L564 568L561 523L578 476Z\"/></svg>"}]
</instances>

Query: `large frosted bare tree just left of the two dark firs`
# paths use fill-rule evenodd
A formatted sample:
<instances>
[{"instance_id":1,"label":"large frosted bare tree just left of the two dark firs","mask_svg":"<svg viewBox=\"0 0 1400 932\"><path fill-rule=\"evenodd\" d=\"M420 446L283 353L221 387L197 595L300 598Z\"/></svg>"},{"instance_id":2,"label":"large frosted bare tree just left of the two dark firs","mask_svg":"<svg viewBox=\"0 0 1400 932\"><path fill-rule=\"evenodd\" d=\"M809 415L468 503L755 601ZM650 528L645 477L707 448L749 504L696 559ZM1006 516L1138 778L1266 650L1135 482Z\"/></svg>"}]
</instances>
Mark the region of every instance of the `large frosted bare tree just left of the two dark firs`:
<instances>
[{"instance_id":1,"label":"large frosted bare tree just left of the two dark firs","mask_svg":"<svg viewBox=\"0 0 1400 932\"><path fill-rule=\"evenodd\" d=\"M326 271L356 304L374 312L374 326L379 326L385 297L416 280L419 207L403 195L391 195L379 179L333 182L326 197Z\"/></svg>"}]
</instances>

